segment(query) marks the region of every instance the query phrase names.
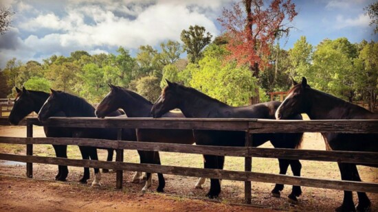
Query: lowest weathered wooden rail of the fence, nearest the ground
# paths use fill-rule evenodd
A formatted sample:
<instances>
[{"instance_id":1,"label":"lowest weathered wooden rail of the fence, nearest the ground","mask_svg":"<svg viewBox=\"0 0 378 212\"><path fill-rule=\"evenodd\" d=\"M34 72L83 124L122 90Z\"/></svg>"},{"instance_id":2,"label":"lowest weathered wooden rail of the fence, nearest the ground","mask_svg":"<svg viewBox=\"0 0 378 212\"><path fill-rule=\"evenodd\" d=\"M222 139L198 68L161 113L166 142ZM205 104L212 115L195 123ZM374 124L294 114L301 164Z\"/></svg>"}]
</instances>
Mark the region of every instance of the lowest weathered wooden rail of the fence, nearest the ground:
<instances>
[{"instance_id":1,"label":"lowest weathered wooden rail of the fence, nearest the ground","mask_svg":"<svg viewBox=\"0 0 378 212\"><path fill-rule=\"evenodd\" d=\"M300 185L306 187L318 187L324 189L337 189L346 191L362 191L378 193L378 183L374 182L353 182L341 180L325 180L315 178L304 178L297 176L286 176L280 174L265 174L258 172L236 172L220 169L199 169L189 167L177 167L167 165L121 163L107 161L89 161L67 158L52 158L41 156L21 156L14 154L0 154L0 160L19 161L24 163L44 163L52 165L69 165L76 167L98 167L104 169L123 169L137 172L159 172L162 174L175 174L181 176L194 176L205 178L219 178L223 180L270 182L285 185Z\"/></svg>"}]
</instances>

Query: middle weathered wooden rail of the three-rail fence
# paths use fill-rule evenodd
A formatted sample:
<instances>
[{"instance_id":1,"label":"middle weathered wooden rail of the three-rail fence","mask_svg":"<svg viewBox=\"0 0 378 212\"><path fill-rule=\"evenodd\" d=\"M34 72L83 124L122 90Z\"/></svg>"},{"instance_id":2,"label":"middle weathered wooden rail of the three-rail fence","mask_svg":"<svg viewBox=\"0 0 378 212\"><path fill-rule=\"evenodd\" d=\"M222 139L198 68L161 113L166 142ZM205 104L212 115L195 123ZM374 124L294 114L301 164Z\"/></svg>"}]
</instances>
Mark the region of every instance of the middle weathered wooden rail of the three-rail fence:
<instances>
[{"instance_id":1,"label":"middle weathered wooden rail of the three-rail fence","mask_svg":"<svg viewBox=\"0 0 378 212\"><path fill-rule=\"evenodd\" d=\"M112 141L102 139L74 139L74 138L16 138L0 137L0 143L14 144L54 144L54 145L82 145L98 148L113 148L125 150L145 150L159 152L181 152L189 154L210 154L218 156L241 156L263 158L286 158L309 161L333 161L344 163L378 165L378 152L346 152L324 150L293 150L271 148L221 147L206 145L186 145L173 143L152 143L135 141Z\"/></svg>"}]
</instances>

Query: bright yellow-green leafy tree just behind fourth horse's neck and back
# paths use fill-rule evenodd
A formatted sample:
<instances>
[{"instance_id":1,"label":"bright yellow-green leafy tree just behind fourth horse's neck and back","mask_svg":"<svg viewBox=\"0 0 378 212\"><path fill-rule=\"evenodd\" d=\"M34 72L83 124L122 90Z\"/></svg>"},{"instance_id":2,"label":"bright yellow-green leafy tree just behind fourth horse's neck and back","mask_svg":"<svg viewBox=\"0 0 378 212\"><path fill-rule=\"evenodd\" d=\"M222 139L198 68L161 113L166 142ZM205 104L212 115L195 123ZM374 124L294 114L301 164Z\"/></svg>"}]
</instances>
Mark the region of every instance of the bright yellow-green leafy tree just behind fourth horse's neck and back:
<instances>
[{"instance_id":1,"label":"bright yellow-green leafy tree just behind fourth horse's neck and back","mask_svg":"<svg viewBox=\"0 0 378 212\"><path fill-rule=\"evenodd\" d=\"M189 84L232 106L247 105L254 93L256 78L252 77L247 66L237 66L236 62L223 64L227 54L225 47L209 45L203 51L199 67L190 71Z\"/></svg>"}]
</instances>

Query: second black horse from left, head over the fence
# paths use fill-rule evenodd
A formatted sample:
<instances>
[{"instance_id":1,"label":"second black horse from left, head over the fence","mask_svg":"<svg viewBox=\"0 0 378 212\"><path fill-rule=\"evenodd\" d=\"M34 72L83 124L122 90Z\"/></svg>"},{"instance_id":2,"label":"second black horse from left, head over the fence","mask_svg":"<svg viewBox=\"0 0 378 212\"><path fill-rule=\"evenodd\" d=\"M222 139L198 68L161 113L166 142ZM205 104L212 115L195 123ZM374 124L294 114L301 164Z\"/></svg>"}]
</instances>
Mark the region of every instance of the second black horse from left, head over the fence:
<instances>
[{"instance_id":1,"label":"second black horse from left, head over the fence","mask_svg":"<svg viewBox=\"0 0 378 212\"><path fill-rule=\"evenodd\" d=\"M49 117L53 117L58 111L62 111L65 117L96 117L95 108L91 106L85 99L76 97L63 91L54 91L49 95L45 104L43 104L41 110L38 113L38 119L40 121L46 121ZM109 117L120 116L122 113L116 110L109 114ZM117 139L116 129L98 129L98 128L71 128L72 137L89 138L89 139ZM122 138L129 141L135 141L135 130L124 129ZM97 149L93 147L79 146L83 159L98 160ZM95 179L92 185L100 184L100 172L95 168ZM89 168L84 168L84 175L80 182L86 183L89 179Z\"/></svg>"}]
</instances>

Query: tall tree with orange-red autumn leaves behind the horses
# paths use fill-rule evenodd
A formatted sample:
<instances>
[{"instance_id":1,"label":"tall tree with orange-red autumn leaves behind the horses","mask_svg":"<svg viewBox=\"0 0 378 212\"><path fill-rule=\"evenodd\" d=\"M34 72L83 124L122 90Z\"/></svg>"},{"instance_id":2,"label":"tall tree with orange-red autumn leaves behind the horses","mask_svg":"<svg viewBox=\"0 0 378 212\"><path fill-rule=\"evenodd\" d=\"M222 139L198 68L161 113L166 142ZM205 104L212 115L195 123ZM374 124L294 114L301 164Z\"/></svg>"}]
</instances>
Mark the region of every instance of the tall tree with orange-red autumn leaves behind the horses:
<instances>
[{"instance_id":1,"label":"tall tree with orange-red autumn leaves behind the horses","mask_svg":"<svg viewBox=\"0 0 378 212\"><path fill-rule=\"evenodd\" d=\"M247 65L252 75L259 78L259 71L269 65L270 47L277 38L289 34L289 23L297 14L296 5L290 0L272 0L267 6L263 0L244 0L233 3L230 10L224 8L218 21L229 38L227 60ZM258 102L256 89L249 103Z\"/></svg>"}]
</instances>

